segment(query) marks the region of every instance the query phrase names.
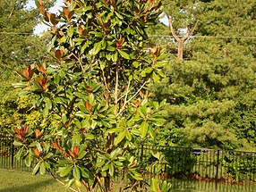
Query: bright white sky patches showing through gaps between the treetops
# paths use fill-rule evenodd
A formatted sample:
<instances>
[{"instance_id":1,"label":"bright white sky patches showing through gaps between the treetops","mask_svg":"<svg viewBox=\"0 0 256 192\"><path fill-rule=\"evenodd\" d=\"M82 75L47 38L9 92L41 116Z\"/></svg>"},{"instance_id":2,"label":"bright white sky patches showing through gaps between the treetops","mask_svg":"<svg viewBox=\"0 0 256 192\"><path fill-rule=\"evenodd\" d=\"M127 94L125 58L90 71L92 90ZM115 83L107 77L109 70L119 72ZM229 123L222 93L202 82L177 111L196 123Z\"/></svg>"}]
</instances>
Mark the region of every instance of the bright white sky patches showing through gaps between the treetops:
<instances>
[{"instance_id":1,"label":"bright white sky patches showing through gaps between the treetops","mask_svg":"<svg viewBox=\"0 0 256 192\"><path fill-rule=\"evenodd\" d=\"M50 13L58 13L58 10L61 9L62 5L64 5L64 0L56 0L55 6L50 9ZM29 6L36 7L35 1L30 0ZM162 19L161 21L168 25L168 21L166 18ZM38 24L35 27L34 33L39 35L41 32L47 31L47 28L47 25L45 25L44 23Z\"/></svg>"}]
</instances>

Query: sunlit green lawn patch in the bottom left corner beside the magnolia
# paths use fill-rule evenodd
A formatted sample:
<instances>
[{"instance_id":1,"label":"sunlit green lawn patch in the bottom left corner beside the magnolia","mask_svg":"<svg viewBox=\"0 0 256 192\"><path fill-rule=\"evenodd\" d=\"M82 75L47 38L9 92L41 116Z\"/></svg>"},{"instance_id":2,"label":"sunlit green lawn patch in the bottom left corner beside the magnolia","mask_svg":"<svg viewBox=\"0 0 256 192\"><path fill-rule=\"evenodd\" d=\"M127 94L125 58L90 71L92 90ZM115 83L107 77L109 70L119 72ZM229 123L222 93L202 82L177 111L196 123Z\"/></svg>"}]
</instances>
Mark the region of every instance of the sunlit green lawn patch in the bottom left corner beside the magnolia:
<instances>
[{"instance_id":1,"label":"sunlit green lawn patch in the bottom left corner beside the magnolia","mask_svg":"<svg viewBox=\"0 0 256 192\"><path fill-rule=\"evenodd\" d=\"M0 169L0 192L69 192L49 175Z\"/></svg>"}]
</instances>

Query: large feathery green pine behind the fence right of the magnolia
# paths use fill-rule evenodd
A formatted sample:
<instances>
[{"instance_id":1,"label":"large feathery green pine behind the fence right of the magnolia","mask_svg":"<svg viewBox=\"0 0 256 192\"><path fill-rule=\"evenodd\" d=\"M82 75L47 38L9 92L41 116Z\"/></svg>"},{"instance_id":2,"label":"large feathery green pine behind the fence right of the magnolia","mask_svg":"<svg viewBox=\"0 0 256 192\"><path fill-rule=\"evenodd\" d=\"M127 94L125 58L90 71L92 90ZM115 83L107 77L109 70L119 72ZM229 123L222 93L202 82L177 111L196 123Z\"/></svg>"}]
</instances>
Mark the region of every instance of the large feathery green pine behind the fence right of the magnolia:
<instances>
[{"instance_id":1,"label":"large feathery green pine behind the fence right of the magnolia","mask_svg":"<svg viewBox=\"0 0 256 192\"><path fill-rule=\"evenodd\" d=\"M163 143L228 149L254 146L256 4L231 2L188 3L193 7L190 15L199 21L185 45L189 56L185 61L171 57L165 70L168 78L155 87L156 96L170 104L167 129L159 138ZM187 8L176 9L180 11L170 15L187 13ZM189 20L184 17L181 23Z\"/></svg>"}]
</instances>

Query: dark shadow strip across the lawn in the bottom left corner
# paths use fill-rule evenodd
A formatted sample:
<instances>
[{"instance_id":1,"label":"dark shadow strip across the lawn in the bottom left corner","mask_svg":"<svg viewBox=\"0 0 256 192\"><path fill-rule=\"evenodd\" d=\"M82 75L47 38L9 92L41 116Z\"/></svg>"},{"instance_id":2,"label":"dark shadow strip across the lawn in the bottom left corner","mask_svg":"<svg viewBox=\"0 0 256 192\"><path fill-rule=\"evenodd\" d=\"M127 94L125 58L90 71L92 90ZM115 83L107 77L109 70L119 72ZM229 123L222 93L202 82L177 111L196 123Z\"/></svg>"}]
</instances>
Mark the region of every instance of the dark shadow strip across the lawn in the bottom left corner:
<instances>
[{"instance_id":1,"label":"dark shadow strip across the lawn in the bottom left corner","mask_svg":"<svg viewBox=\"0 0 256 192\"><path fill-rule=\"evenodd\" d=\"M47 179L44 181L31 183L29 185L22 185L17 187L10 186L9 188L0 189L0 192L35 192L35 191L38 191L39 188L46 188L52 183L55 183L54 179Z\"/></svg>"}]
</instances>

